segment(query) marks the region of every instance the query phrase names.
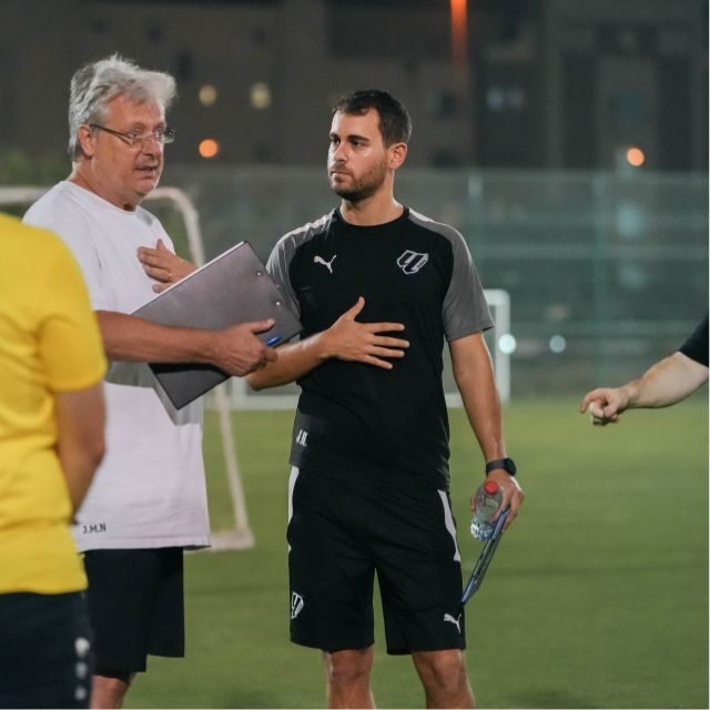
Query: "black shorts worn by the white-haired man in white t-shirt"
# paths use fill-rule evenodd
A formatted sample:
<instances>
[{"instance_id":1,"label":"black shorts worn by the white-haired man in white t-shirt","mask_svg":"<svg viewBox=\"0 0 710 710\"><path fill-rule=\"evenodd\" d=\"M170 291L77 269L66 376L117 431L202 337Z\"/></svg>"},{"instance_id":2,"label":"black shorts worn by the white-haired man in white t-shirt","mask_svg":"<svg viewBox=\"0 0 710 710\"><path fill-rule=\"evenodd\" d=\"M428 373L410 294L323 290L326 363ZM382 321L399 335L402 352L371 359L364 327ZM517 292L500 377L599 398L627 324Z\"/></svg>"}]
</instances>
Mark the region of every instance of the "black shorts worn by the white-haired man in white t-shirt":
<instances>
[{"instance_id":1,"label":"black shorts worn by the white-haired man in white t-shirt","mask_svg":"<svg viewBox=\"0 0 710 710\"><path fill-rule=\"evenodd\" d=\"M179 547L84 554L99 676L144 671L149 655L185 655L182 555Z\"/></svg>"}]
</instances>

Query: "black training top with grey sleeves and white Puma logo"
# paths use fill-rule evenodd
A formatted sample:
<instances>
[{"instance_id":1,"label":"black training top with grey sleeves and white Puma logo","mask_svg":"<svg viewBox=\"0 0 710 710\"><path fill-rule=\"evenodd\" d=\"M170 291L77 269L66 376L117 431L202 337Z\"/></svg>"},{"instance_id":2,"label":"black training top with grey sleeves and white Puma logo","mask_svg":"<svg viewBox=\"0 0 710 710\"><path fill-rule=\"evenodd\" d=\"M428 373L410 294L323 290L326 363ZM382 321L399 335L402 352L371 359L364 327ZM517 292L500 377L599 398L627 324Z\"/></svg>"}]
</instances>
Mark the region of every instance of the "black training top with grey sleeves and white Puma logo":
<instances>
[{"instance_id":1,"label":"black training top with grey sleeves and white Puma logo","mask_svg":"<svg viewBox=\"0 0 710 710\"><path fill-rule=\"evenodd\" d=\"M339 212L283 236L267 270L300 315L302 338L325 331L358 296L362 323L403 323L392 371L329 359L298 384L291 464L372 485L448 489L444 339L493 325L463 236L405 209L356 226Z\"/></svg>"}]
</instances>

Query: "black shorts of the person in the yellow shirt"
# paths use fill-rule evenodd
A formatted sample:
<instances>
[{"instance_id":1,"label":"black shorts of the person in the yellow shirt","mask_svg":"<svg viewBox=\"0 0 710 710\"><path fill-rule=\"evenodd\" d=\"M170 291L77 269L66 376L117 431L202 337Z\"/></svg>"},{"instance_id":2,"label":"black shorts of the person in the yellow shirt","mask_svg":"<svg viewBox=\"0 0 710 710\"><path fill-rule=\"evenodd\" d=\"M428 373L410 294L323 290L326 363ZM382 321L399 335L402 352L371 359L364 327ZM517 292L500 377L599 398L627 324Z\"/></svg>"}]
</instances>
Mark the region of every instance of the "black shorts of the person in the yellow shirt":
<instances>
[{"instance_id":1,"label":"black shorts of the person in the yellow shirt","mask_svg":"<svg viewBox=\"0 0 710 710\"><path fill-rule=\"evenodd\" d=\"M81 592L0 595L0 708L88 708L92 672Z\"/></svg>"}]
</instances>

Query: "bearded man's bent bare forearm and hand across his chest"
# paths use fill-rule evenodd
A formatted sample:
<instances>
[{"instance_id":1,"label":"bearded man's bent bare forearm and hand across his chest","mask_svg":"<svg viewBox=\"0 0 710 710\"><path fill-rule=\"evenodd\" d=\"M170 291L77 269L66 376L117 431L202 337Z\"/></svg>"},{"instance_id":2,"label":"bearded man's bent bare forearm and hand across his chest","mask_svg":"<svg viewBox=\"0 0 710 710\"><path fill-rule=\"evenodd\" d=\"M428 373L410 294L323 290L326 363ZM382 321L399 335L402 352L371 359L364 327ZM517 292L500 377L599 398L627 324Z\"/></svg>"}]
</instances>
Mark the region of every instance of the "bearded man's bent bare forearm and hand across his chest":
<instances>
[{"instance_id":1,"label":"bearded man's bent bare forearm and hand across his chest","mask_svg":"<svg viewBox=\"0 0 710 710\"><path fill-rule=\"evenodd\" d=\"M277 387L294 382L329 357L347 362L366 363L392 369L387 358L404 357L409 343L381 333L404 331L402 323L359 323L356 317L365 307L362 296L327 331L316 333L298 343L278 347L278 361L247 377L254 389Z\"/></svg>"}]
</instances>

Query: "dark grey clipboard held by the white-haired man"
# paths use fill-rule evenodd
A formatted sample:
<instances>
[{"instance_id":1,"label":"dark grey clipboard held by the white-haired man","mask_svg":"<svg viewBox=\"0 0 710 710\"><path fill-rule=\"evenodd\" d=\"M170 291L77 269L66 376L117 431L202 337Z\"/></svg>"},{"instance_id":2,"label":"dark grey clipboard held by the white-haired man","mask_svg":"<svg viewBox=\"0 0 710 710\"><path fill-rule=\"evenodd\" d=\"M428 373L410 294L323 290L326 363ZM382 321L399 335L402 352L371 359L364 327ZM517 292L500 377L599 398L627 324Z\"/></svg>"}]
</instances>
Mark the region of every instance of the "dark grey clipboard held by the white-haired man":
<instances>
[{"instance_id":1,"label":"dark grey clipboard held by the white-haired man","mask_svg":"<svg viewBox=\"0 0 710 710\"><path fill-rule=\"evenodd\" d=\"M248 242L235 244L132 315L207 331L274 318L272 328L256 334L268 345L285 343L303 329ZM178 409L231 376L201 363L150 363L150 368Z\"/></svg>"}]
</instances>

